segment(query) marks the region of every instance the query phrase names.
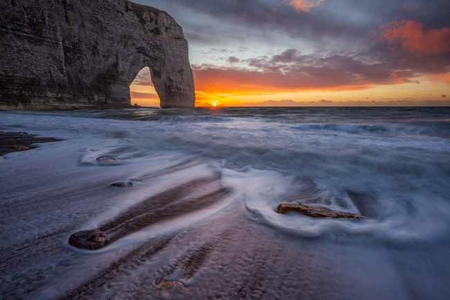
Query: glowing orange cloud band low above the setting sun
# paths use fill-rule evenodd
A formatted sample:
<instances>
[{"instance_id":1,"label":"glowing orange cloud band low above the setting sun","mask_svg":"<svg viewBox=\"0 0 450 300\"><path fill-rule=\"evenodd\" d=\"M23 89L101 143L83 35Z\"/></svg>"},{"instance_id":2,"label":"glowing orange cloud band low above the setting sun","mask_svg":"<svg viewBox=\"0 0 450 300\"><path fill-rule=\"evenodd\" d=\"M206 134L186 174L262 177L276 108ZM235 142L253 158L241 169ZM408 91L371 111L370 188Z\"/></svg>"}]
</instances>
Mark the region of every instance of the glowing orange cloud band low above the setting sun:
<instances>
[{"instance_id":1,"label":"glowing orange cloud band low above the setting sun","mask_svg":"<svg viewBox=\"0 0 450 300\"><path fill-rule=\"evenodd\" d=\"M277 93L363 90L375 84L404 84L411 82L412 76L402 71L391 73L378 66L357 66L354 73L340 68L308 66L284 73L215 66L192 66L192 71L198 100L203 95L224 100Z\"/></svg>"}]
</instances>

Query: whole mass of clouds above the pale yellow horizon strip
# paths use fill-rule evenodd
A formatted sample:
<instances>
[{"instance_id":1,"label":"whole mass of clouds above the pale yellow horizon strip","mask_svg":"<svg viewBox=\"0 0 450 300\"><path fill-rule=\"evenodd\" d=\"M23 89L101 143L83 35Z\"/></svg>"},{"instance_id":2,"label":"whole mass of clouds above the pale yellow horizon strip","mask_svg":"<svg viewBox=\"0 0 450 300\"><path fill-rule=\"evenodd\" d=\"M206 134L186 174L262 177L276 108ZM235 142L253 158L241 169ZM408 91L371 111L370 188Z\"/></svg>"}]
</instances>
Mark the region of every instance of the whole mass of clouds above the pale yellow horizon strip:
<instances>
[{"instance_id":1,"label":"whole mass of clouds above the pale yellow horizon strip","mask_svg":"<svg viewBox=\"0 0 450 300\"><path fill-rule=\"evenodd\" d=\"M140 2L170 12L191 44L209 47L220 55L216 59L223 57L217 64L233 64L193 66L196 85L205 88L226 83L342 90L417 82L419 75L450 72L449 44L443 39L450 30L448 0L325 0L309 12L296 10L289 0ZM420 35L410 35L411 28ZM302 41L309 51L280 51L288 47L276 44L272 54L249 58L249 50L246 57L213 50L221 43L251 50L249 37L270 44L273 35L281 43Z\"/></svg>"}]
</instances>

